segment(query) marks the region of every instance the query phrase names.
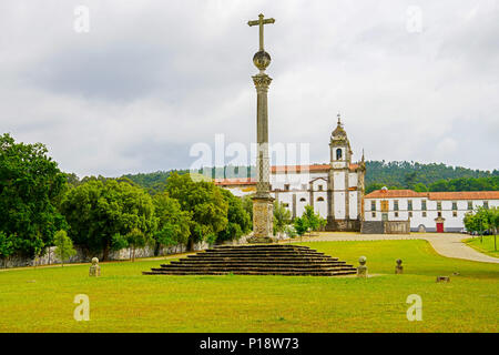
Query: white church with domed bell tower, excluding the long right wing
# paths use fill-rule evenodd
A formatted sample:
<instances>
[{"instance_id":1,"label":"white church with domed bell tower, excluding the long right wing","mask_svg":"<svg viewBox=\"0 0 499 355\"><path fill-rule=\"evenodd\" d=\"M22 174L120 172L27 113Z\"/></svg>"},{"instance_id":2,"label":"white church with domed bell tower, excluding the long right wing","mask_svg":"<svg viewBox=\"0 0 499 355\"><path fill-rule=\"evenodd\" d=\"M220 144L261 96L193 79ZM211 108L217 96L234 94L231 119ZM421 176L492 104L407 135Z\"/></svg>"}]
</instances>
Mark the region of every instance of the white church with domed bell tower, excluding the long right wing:
<instances>
[{"instance_id":1,"label":"white church with domed bell tower, excluding the long right wing","mask_svg":"<svg viewBox=\"0 0 499 355\"><path fill-rule=\"evenodd\" d=\"M329 163L271 168L271 194L293 217L302 216L306 205L327 219L326 231L360 231L363 221L364 154L352 161L352 148L338 115L329 139ZM255 192L253 179L215 180L222 187L242 196Z\"/></svg>"}]
</instances>

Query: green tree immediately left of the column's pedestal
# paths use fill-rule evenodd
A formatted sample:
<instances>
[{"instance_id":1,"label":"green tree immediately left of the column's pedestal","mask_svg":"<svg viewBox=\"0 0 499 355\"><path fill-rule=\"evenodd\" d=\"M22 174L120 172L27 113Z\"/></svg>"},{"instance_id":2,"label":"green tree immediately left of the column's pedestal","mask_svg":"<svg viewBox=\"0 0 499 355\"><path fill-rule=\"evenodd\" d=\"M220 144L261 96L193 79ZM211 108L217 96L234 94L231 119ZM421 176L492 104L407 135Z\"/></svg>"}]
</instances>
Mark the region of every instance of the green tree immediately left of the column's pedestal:
<instances>
[{"instance_id":1,"label":"green tree immediately left of the column's pedestal","mask_svg":"<svg viewBox=\"0 0 499 355\"><path fill-rule=\"evenodd\" d=\"M252 223L249 214L243 205L243 201L236 197L228 190L221 190L224 200L227 202L227 225L217 233L217 241L238 240L244 234L249 233Z\"/></svg>"}]
</instances>

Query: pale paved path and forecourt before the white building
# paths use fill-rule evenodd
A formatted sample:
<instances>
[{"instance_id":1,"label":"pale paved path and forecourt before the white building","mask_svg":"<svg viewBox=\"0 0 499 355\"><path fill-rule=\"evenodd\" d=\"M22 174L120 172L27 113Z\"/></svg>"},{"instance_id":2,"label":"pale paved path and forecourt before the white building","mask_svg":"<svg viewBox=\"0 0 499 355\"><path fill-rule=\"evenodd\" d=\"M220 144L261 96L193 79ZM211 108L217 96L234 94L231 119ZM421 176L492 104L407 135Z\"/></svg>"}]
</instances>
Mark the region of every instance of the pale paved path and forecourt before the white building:
<instances>
[{"instance_id":1,"label":"pale paved path and forecourt before the white building","mask_svg":"<svg viewBox=\"0 0 499 355\"><path fill-rule=\"evenodd\" d=\"M399 241L426 240L435 251L446 257L464 258L482 263L499 264L498 257L492 257L462 243L467 234L454 233L413 233L413 234L358 234L358 233L319 233L316 236L306 236L304 242L334 242L334 241ZM296 241L296 240L295 240Z\"/></svg>"}]
</instances>

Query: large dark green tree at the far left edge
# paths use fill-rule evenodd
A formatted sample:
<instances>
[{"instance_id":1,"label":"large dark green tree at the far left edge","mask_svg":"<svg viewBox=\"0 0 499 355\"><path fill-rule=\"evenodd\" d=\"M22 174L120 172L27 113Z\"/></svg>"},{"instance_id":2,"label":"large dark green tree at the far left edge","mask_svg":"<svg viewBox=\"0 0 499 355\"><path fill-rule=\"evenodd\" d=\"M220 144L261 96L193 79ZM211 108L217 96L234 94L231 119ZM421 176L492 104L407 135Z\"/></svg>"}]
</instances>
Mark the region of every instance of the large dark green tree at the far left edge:
<instances>
[{"instance_id":1,"label":"large dark green tree at the far left edge","mask_svg":"<svg viewBox=\"0 0 499 355\"><path fill-rule=\"evenodd\" d=\"M0 232L12 242L12 253L38 255L67 229L57 210L67 178L47 153L41 143L0 135Z\"/></svg>"}]
</instances>

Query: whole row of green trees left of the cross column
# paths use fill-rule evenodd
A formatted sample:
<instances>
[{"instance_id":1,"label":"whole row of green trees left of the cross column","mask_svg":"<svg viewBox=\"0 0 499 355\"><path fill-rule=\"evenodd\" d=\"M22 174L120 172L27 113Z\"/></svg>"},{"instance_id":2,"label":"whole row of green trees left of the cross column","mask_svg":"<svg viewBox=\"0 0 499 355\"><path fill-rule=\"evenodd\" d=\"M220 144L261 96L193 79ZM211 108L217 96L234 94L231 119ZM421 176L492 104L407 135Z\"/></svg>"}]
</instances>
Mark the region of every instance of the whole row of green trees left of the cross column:
<instances>
[{"instance_id":1,"label":"whole row of green trees left of the cross column","mask_svg":"<svg viewBox=\"0 0 499 355\"><path fill-rule=\"evenodd\" d=\"M197 242L238 239L251 231L241 199L212 181L192 178L197 176L173 172L154 194L126 178L80 181L60 171L43 144L17 143L3 134L0 257L33 257L55 243L69 245L65 233L71 243L105 260L123 247L133 253L144 245L192 248Z\"/></svg>"}]
</instances>

